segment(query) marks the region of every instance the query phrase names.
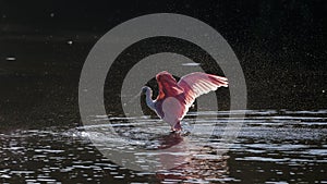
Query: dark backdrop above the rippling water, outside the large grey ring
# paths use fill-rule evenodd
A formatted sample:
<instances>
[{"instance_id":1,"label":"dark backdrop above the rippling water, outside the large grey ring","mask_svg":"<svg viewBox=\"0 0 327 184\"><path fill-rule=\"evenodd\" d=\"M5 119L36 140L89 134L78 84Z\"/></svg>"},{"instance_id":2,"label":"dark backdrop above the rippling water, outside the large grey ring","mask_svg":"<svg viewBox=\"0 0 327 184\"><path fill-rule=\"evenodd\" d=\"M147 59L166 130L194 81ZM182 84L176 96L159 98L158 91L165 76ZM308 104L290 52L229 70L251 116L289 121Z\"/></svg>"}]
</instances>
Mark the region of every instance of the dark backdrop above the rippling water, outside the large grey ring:
<instances>
[{"instance_id":1,"label":"dark backdrop above the rippling water, outside the large grey ring","mask_svg":"<svg viewBox=\"0 0 327 184\"><path fill-rule=\"evenodd\" d=\"M162 12L198 19L227 39L249 109L326 109L327 1L0 0L0 126L78 124L78 78L92 47L124 21Z\"/></svg>"}]
</instances>

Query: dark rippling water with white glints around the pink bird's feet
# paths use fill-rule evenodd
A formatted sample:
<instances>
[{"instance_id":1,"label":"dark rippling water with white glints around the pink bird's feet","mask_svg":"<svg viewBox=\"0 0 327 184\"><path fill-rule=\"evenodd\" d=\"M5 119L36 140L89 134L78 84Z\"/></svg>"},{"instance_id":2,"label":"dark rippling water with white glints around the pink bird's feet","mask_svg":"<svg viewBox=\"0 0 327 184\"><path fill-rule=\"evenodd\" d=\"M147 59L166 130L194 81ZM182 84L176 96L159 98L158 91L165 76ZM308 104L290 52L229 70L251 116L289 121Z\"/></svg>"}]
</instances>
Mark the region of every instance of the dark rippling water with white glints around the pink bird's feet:
<instances>
[{"instance_id":1,"label":"dark rippling water with white glints around the pink bird's feet","mask_svg":"<svg viewBox=\"0 0 327 184\"><path fill-rule=\"evenodd\" d=\"M165 123L149 116L110 118L112 125L102 124L106 116L94 116L97 125L85 127L1 132L0 183L327 183L327 110L249 110L235 144L222 156L207 159L199 156L217 156L215 145L226 123L240 120L228 120L225 111L197 112L185 118L186 128L192 130L195 116L197 125L216 124L209 143L204 142L205 134L171 134ZM106 134L109 128L129 142L116 142ZM89 136L98 138L98 145ZM108 142L132 155L142 155L136 148L152 151L177 144L192 150L175 168L133 171L97 149Z\"/></svg>"}]
</instances>

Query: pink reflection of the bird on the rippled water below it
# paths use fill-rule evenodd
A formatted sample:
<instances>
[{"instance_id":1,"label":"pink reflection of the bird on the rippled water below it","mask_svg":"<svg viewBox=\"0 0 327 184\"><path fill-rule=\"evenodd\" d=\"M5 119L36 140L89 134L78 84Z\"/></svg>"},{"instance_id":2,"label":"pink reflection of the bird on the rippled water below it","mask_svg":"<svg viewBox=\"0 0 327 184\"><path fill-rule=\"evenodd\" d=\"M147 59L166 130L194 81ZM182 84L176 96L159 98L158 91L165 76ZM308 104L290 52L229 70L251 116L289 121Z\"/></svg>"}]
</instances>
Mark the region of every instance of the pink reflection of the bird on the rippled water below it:
<instances>
[{"instance_id":1,"label":"pink reflection of the bird on the rippled water below it","mask_svg":"<svg viewBox=\"0 0 327 184\"><path fill-rule=\"evenodd\" d=\"M165 182L206 182L206 181L223 181L228 174L227 159L228 156L216 157L216 150L213 147L196 147L190 145L187 137L171 133L160 138L161 145L159 149L168 149L169 151L181 152L187 155L181 157L169 157L160 155L162 165L167 162L174 163L175 167L167 170L160 170L156 173L157 177ZM179 145L179 146L177 146ZM187 150L184 150L187 148ZM213 156L213 157L210 157Z\"/></svg>"}]
</instances>

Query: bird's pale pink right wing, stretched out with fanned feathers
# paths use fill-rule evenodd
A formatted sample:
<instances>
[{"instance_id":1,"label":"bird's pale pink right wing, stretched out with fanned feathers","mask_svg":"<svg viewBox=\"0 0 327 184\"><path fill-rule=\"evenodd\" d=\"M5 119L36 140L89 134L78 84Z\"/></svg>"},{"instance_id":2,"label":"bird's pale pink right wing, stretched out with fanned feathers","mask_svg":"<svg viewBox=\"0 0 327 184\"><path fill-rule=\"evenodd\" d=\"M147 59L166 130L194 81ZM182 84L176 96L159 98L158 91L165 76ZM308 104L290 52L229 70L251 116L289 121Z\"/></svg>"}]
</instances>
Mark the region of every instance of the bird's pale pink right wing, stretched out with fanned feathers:
<instances>
[{"instance_id":1,"label":"bird's pale pink right wing, stretched out with fanned feathers","mask_svg":"<svg viewBox=\"0 0 327 184\"><path fill-rule=\"evenodd\" d=\"M183 89L186 107L190 108L195 98L216 90L220 86L227 87L228 82L222 76L195 72L181 77L178 86Z\"/></svg>"}]
</instances>

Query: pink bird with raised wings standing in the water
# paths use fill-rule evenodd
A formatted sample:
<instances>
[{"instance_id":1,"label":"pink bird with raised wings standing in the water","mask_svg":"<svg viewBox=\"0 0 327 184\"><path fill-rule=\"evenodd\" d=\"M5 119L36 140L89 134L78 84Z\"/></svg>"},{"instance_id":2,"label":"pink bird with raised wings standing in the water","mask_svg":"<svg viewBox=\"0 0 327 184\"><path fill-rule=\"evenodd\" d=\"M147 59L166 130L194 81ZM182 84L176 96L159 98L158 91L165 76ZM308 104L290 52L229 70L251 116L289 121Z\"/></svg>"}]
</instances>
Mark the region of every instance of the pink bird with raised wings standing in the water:
<instances>
[{"instance_id":1,"label":"pink bird with raised wings standing in the water","mask_svg":"<svg viewBox=\"0 0 327 184\"><path fill-rule=\"evenodd\" d=\"M144 86L142 93L146 95L146 105L154 110L165 122L169 123L171 131L181 131L181 120L184 118L195 98L228 86L226 77L195 72L187 74L179 82L166 71L156 75L159 85L159 95L152 99L153 90Z\"/></svg>"}]
</instances>

